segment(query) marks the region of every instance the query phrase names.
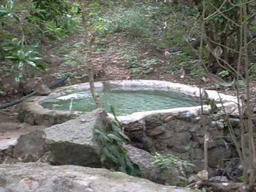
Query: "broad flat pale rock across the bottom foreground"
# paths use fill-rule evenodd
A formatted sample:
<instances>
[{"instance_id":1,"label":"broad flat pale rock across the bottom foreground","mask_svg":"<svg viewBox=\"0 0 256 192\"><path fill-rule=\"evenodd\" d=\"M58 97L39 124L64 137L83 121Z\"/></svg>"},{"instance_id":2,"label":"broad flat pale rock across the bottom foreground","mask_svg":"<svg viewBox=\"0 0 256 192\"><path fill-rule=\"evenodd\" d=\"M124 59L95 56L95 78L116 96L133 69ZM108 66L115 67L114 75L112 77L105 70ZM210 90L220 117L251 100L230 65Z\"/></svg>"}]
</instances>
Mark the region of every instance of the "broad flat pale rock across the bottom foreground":
<instances>
[{"instance_id":1,"label":"broad flat pale rock across the bottom foreground","mask_svg":"<svg viewBox=\"0 0 256 192\"><path fill-rule=\"evenodd\" d=\"M121 172L75 165L42 163L0 165L0 191L5 192L195 192L158 185Z\"/></svg>"}]
</instances>

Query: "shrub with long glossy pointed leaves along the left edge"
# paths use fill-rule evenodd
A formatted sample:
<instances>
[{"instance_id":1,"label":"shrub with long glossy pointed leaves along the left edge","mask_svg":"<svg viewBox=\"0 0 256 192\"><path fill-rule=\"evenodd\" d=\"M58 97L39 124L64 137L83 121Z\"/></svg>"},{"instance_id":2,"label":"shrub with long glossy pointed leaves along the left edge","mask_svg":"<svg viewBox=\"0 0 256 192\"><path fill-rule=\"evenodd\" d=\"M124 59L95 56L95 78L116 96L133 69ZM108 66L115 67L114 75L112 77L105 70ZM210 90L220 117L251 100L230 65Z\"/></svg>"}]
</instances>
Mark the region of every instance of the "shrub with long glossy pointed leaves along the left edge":
<instances>
[{"instance_id":1,"label":"shrub with long glossy pointed leaves along the left edge","mask_svg":"<svg viewBox=\"0 0 256 192\"><path fill-rule=\"evenodd\" d=\"M2 59L12 61L13 64L8 67L8 70L11 70L12 75L15 75L15 80L19 81L24 77L25 69L45 69L46 66L39 57L39 52L36 50L37 45L26 44L26 36L17 14L18 9L12 0L0 6L0 33L4 34L0 38L0 55ZM12 29L7 26L8 23L14 23L13 28L18 26L17 34L10 32ZM7 63L5 65L9 65L9 62Z\"/></svg>"}]
</instances>

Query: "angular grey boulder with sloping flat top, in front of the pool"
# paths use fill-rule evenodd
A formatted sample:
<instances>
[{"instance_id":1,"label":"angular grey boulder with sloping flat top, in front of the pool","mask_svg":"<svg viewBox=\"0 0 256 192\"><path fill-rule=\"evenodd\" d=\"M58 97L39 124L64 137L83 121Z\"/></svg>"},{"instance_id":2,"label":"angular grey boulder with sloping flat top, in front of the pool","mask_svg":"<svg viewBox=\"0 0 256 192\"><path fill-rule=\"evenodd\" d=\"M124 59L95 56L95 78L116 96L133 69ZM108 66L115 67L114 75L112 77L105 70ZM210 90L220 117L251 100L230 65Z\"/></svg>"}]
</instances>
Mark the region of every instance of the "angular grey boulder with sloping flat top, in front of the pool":
<instances>
[{"instance_id":1,"label":"angular grey boulder with sloping flat top, in front of the pool","mask_svg":"<svg viewBox=\"0 0 256 192\"><path fill-rule=\"evenodd\" d=\"M107 114L97 109L77 119L53 125L41 132L19 138L14 157L23 162L41 161L54 165L100 167L101 147L93 138L94 129L105 129Z\"/></svg>"}]
</instances>

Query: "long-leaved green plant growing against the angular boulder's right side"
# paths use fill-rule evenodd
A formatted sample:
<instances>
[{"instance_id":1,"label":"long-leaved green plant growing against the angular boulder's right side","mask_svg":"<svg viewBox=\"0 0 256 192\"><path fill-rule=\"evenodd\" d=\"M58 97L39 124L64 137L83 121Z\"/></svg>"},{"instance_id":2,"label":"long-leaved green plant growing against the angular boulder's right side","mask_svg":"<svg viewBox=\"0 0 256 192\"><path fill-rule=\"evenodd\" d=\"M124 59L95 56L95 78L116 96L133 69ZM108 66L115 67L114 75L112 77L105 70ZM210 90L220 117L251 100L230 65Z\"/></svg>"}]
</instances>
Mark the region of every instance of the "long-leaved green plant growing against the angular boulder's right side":
<instances>
[{"instance_id":1,"label":"long-leaved green plant growing against the angular boulder's right side","mask_svg":"<svg viewBox=\"0 0 256 192\"><path fill-rule=\"evenodd\" d=\"M115 116L114 108L111 111ZM110 131L104 132L98 129L94 130L95 138L102 144L101 162L111 162L110 168L121 171L133 176L139 176L139 166L131 161L122 147L123 143L129 142L130 139L121 131L120 124L115 116L115 120L110 121Z\"/></svg>"}]
</instances>

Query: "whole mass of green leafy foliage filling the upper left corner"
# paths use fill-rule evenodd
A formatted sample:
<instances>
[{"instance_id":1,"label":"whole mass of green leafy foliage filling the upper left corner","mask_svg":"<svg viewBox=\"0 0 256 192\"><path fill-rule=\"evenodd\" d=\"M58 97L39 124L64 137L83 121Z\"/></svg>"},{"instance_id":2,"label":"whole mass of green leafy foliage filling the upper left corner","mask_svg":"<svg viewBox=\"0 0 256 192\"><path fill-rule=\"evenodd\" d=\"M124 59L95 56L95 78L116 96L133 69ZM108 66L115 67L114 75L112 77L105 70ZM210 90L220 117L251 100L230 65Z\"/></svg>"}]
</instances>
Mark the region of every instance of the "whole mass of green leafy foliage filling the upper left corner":
<instances>
[{"instance_id":1,"label":"whole mass of green leafy foliage filling the upper left corner","mask_svg":"<svg viewBox=\"0 0 256 192\"><path fill-rule=\"evenodd\" d=\"M5 72L12 70L19 81L34 69L45 69L38 52L38 37L56 40L73 34L79 22L78 10L79 4L67 0L8 0L0 5L0 55L5 66L13 63ZM22 22L20 17L24 18Z\"/></svg>"}]
</instances>

